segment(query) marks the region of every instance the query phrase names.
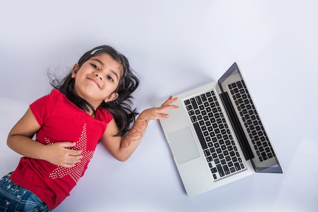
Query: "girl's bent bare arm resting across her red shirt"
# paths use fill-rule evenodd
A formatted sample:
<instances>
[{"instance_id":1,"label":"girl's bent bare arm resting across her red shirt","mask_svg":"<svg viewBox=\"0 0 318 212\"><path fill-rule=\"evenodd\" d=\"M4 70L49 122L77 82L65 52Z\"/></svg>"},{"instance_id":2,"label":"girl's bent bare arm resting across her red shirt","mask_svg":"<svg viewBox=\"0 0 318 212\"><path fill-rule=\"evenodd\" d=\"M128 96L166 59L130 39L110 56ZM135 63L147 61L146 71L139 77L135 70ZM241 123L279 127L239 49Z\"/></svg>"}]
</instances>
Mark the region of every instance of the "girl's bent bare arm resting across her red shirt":
<instances>
[{"instance_id":1,"label":"girl's bent bare arm resting across her red shirt","mask_svg":"<svg viewBox=\"0 0 318 212\"><path fill-rule=\"evenodd\" d=\"M75 143L60 142L44 145L33 140L33 136L41 126L30 109L14 125L8 135L7 145L15 152L35 159L46 160L62 167L72 167L79 162L82 150L71 150Z\"/></svg>"}]
</instances>

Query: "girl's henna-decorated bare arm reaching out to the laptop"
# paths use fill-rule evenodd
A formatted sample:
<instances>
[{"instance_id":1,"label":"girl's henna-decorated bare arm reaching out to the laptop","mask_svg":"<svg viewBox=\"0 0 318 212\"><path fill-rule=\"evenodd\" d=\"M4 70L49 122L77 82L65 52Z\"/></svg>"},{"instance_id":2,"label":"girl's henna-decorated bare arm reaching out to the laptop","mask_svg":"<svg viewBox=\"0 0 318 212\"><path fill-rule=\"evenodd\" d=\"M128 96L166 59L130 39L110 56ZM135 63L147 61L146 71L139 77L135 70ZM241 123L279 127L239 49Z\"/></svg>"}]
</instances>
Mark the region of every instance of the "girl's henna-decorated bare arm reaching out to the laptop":
<instances>
[{"instance_id":1,"label":"girl's henna-decorated bare arm reaching out to the laptop","mask_svg":"<svg viewBox=\"0 0 318 212\"><path fill-rule=\"evenodd\" d=\"M172 96L170 96L160 108L151 108L143 111L137 118L131 130L124 137L114 136L118 132L118 128L114 119L112 119L108 123L101 139L103 145L117 160L127 160L140 144L149 121L168 118L168 114L165 114L165 112L169 109L178 108L176 105L171 105L171 103L176 100L176 97L172 98Z\"/></svg>"}]
</instances>

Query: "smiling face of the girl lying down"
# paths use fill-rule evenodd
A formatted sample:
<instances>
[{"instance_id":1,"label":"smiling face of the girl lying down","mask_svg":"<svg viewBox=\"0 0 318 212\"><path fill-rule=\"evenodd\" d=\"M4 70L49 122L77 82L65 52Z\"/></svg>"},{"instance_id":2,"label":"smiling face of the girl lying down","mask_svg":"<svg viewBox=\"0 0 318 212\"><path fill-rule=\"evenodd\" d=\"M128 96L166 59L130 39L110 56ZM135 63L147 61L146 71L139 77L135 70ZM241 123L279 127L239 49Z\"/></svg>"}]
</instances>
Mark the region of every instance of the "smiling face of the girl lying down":
<instances>
[{"instance_id":1,"label":"smiling face of the girl lying down","mask_svg":"<svg viewBox=\"0 0 318 212\"><path fill-rule=\"evenodd\" d=\"M94 108L118 97L115 90L122 76L121 64L106 53L94 56L81 67L76 63L72 70L74 91Z\"/></svg>"}]
</instances>

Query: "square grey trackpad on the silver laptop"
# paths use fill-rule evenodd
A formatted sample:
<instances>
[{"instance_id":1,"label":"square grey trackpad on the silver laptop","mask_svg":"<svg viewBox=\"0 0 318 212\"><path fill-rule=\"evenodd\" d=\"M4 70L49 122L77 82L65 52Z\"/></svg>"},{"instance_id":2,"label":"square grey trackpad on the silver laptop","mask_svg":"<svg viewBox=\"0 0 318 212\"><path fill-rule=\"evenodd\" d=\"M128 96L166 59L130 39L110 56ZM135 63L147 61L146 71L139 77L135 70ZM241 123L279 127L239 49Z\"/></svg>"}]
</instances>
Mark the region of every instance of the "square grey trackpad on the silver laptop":
<instances>
[{"instance_id":1,"label":"square grey trackpad on the silver laptop","mask_svg":"<svg viewBox=\"0 0 318 212\"><path fill-rule=\"evenodd\" d=\"M179 164L200 157L200 153L189 127L171 132L168 137L172 152Z\"/></svg>"}]
</instances>

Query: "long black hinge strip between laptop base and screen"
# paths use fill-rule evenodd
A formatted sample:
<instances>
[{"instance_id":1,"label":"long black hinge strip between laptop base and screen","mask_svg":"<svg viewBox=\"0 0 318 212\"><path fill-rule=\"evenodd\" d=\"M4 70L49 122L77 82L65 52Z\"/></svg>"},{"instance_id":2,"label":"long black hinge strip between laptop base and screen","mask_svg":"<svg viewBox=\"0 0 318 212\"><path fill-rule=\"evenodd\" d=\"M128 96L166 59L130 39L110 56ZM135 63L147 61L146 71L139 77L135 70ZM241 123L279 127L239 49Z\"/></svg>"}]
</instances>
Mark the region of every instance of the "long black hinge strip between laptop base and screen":
<instances>
[{"instance_id":1,"label":"long black hinge strip between laptop base and screen","mask_svg":"<svg viewBox=\"0 0 318 212\"><path fill-rule=\"evenodd\" d=\"M219 95L220 95L220 98L224 104L224 107L226 108L226 112L228 114L231 125L234 129L234 132L235 132L236 137L238 139L238 143L240 144L240 147L242 149L242 152L244 154L245 159L250 160L251 158L254 158L252 150L251 150L251 148L248 144L247 138L244 134L243 128L238 120L238 117L237 117L235 110L233 108L233 105L231 103L228 92L223 92Z\"/></svg>"}]
</instances>

